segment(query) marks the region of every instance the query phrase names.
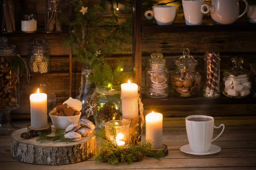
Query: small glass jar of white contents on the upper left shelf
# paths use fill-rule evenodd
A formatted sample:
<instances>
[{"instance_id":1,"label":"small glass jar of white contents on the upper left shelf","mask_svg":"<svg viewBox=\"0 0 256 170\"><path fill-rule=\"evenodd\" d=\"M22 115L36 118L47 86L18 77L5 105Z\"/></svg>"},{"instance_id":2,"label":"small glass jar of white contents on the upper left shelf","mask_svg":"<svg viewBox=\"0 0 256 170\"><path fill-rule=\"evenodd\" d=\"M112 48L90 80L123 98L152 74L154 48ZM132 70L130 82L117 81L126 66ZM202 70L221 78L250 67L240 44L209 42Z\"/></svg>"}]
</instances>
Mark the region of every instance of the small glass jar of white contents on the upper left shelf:
<instances>
[{"instance_id":1,"label":"small glass jar of white contents on the upper left shelf","mask_svg":"<svg viewBox=\"0 0 256 170\"><path fill-rule=\"evenodd\" d=\"M34 33L37 31L37 20L35 14L23 15L21 20L21 31L24 33Z\"/></svg>"}]
</instances>

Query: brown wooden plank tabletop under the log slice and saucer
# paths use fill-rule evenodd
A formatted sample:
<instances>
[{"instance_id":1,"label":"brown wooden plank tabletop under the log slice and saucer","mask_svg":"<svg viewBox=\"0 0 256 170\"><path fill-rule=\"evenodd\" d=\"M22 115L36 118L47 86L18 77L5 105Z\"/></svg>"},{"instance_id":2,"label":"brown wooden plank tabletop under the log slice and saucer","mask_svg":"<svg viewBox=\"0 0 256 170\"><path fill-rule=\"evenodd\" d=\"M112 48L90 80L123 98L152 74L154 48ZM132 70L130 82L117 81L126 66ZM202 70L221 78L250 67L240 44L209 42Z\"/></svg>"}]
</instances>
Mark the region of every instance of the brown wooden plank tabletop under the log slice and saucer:
<instances>
[{"instance_id":1,"label":"brown wooden plank tabletop under the log slice and saucer","mask_svg":"<svg viewBox=\"0 0 256 170\"><path fill-rule=\"evenodd\" d=\"M215 119L215 125L220 122L227 125L224 133L212 142L220 146L221 151L207 156L181 152L180 147L188 144L184 118L168 119L169 126L163 128L163 143L168 146L169 155L161 161L145 157L143 161L129 165L111 165L96 162L91 158L69 165L27 164L11 157L10 136L0 136L0 170L256 170L256 116L241 116L240 119L234 118L233 121L227 117ZM179 121L182 122L180 125L175 124ZM167 123L164 122L165 124ZM28 122L19 122L15 125L26 127ZM220 130L215 130L214 136L219 132ZM100 143L97 143L97 146L99 145Z\"/></svg>"}]
</instances>

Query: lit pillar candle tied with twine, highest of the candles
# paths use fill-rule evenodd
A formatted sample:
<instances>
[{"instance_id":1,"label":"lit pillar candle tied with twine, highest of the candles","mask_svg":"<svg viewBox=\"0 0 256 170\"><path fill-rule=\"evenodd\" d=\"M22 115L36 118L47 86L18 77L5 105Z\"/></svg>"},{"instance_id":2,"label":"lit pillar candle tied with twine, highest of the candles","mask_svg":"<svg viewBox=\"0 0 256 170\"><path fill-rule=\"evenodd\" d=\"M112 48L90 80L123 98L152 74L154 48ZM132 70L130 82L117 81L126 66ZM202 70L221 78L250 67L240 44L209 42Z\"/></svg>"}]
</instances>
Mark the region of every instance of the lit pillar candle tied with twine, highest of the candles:
<instances>
[{"instance_id":1,"label":"lit pillar candle tied with twine, highest of the candles","mask_svg":"<svg viewBox=\"0 0 256 170\"><path fill-rule=\"evenodd\" d=\"M122 117L135 118L139 116L138 106L138 85L131 83L123 83L121 85L122 92Z\"/></svg>"}]
</instances>

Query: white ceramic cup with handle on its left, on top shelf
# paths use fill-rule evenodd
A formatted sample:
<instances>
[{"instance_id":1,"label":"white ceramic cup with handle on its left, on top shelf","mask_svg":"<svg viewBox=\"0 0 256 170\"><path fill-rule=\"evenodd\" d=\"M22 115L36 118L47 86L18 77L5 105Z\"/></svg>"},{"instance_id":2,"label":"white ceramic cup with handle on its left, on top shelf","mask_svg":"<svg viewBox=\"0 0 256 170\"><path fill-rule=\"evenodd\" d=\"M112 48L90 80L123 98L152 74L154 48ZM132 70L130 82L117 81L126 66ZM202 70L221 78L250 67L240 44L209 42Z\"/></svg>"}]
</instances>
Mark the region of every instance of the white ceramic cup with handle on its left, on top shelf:
<instances>
[{"instance_id":1,"label":"white ceramic cup with handle on its left, on top shelf","mask_svg":"<svg viewBox=\"0 0 256 170\"><path fill-rule=\"evenodd\" d=\"M150 16L148 16L150 15ZM176 15L176 6L153 6L153 11L145 11L144 16L147 20L154 19L159 26L172 25Z\"/></svg>"}]
</instances>

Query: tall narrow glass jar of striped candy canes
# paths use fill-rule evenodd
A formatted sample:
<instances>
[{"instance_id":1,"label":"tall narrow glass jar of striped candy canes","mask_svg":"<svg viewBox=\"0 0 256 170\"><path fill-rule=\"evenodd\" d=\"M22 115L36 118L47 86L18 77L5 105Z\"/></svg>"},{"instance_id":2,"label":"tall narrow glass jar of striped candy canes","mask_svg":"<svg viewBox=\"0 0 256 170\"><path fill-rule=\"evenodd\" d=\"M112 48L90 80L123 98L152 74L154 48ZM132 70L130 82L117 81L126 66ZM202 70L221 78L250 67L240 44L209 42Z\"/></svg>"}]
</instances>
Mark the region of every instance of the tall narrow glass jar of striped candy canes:
<instances>
[{"instance_id":1,"label":"tall narrow glass jar of striped candy canes","mask_svg":"<svg viewBox=\"0 0 256 170\"><path fill-rule=\"evenodd\" d=\"M218 98L220 91L220 54L214 51L206 52L204 56L204 97Z\"/></svg>"}]
</instances>

